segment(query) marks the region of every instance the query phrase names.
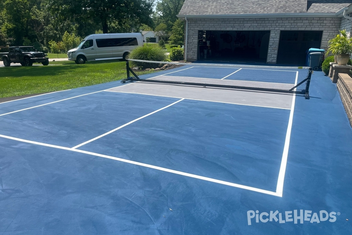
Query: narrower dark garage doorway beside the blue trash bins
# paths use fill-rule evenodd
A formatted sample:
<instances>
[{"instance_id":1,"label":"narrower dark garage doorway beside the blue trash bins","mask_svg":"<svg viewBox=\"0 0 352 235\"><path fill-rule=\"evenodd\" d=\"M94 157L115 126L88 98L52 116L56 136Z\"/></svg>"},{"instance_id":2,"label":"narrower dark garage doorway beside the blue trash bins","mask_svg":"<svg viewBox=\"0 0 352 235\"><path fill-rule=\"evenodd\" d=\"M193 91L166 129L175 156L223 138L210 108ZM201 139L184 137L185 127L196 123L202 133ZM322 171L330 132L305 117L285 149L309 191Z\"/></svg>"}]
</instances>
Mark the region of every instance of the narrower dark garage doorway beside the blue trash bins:
<instances>
[{"instance_id":1,"label":"narrower dark garage doorway beside the blue trash bins","mask_svg":"<svg viewBox=\"0 0 352 235\"><path fill-rule=\"evenodd\" d=\"M309 48L320 48L323 31L288 31L280 32L277 51L278 64L304 66Z\"/></svg>"}]
</instances>

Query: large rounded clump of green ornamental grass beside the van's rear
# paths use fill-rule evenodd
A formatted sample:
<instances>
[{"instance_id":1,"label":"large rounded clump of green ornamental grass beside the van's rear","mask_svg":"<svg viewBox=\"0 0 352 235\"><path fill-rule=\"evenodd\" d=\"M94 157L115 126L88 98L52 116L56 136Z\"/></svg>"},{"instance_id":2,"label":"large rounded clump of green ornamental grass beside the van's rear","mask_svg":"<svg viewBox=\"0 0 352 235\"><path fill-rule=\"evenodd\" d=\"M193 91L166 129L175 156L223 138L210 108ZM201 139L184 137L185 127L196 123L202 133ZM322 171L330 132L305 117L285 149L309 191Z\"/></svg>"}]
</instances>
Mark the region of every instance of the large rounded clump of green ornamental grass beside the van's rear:
<instances>
[{"instance_id":1,"label":"large rounded clump of green ornamental grass beside the van's rear","mask_svg":"<svg viewBox=\"0 0 352 235\"><path fill-rule=\"evenodd\" d=\"M148 44L143 47L137 47L131 51L129 56L130 59L134 60L149 60L149 61L164 61L166 59L165 51L162 47L157 44ZM146 63L143 62L131 62L132 66L143 67Z\"/></svg>"}]
</instances>

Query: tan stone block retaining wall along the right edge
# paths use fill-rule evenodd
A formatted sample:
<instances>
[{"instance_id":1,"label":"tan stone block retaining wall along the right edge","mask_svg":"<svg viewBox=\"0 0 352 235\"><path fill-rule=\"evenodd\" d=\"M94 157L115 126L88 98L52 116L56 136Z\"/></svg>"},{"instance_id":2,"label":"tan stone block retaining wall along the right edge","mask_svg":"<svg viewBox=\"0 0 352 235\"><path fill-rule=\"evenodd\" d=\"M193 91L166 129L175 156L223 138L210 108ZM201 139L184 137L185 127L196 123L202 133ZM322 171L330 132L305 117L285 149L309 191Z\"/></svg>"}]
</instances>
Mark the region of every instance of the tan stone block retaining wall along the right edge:
<instances>
[{"instance_id":1,"label":"tan stone block retaining wall along the right edge","mask_svg":"<svg viewBox=\"0 0 352 235\"><path fill-rule=\"evenodd\" d=\"M352 78L348 74L339 73L337 89L352 126Z\"/></svg>"}]
</instances>

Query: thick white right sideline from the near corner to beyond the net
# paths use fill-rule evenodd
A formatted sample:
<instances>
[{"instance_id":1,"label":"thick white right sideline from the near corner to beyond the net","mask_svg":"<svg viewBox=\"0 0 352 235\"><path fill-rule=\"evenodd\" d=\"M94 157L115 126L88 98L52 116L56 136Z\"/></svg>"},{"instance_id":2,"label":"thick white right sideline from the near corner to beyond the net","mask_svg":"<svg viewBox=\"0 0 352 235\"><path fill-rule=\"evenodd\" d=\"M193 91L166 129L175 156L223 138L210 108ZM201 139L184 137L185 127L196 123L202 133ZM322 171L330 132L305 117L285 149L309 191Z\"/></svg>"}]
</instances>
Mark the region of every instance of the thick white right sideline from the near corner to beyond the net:
<instances>
[{"instance_id":1,"label":"thick white right sideline from the near corner to beyond the net","mask_svg":"<svg viewBox=\"0 0 352 235\"><path fill-rule=\"evenodd\" d=\"M296 75L295 84L297 84L297 78L298 78L298 72L297 72L297 75ZM286 138L285 138L284 151L282 153L281 166L280 166L279 176L278 176L277 185L276 185L276 193L278 194L279 197L282 197L283 188L284 188L284 180L285 180L285 172L286 172L286 165L287 165L288 149L290 147L291 129L292 129L292 122L293 122L293 112L294 112L294 109L295 109L295 100L296 100L296 94L293 94L293 96L292 96L292 104L291 104L291 111L290 111L290 117L289 117L288 125L287 125L287 132L286 132Z\"/></svg>"}]
</instances>

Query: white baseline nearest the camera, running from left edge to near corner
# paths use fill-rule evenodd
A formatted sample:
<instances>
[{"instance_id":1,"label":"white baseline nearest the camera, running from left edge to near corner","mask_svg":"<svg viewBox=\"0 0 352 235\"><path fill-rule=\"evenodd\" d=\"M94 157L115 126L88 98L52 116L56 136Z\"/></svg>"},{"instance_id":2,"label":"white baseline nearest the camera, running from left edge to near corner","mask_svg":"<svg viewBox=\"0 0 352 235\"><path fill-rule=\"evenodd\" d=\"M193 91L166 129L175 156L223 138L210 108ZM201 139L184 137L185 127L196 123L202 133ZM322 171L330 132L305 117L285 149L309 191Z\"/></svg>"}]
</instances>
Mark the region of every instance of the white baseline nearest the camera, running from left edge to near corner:
<instances>
[{"instance_id":1,"label":"white baseline nearest the camera, running from left edge to near corner","mask_svg":"<svg viewBox=\"0 0 352 235\"><path fill-rule=\"evenodd\" d=\"M112 159L112 160L116 160L116 161L120 161L120 162L130 163L130 164L137 165L137 166L143 166L143 167L147 167L147 168L152 168L152 169L156 169L156 170L159 170L159 171L169 172L169 173L183 175L183 176L191 177L191 178L195 178L195 179L210 181L210 182L217 183L217 184L223 184L223 185L227 185L227 186L242 188L242 189L245 189L245 190L250 190L250 191L254 191L254 192L265 193L265 194L269 194L269 195L272 195L272 196L281 197L276 192L263 190L263 189L260 189L260 188L254 188L254 187L249 187L249 186L245 186L245 185L235 184L235 183L231 183L231 182L227 182L227 181L223 181L223 180L212 179L212 178L204 177L204 176L201 176L201 175L194 175L194 174L190 174L190 173L186 173L186 172L175 171L175 170L168 169L168 168L163 168L163 167L153 166L153 165L149 165L149 164L145 164L145 163L141 163L141 162L126 160L126 159L122 159L122 158L119 158L119 157L113 157L113 156L108 156L108 155L104 155L104 154L92 153L92 152L89 152L89 151L84 151L84 150L79 150L79 149L72 149L72 148L63 147L63 146L57 146L57 145L53 145L53 144L46 144L46 143L40 143L40 142L36 142L36 141L24 140L24 139L15 138L15 137L6 136L6 135L0 135L0 137L7 138L7 139L10 139L10 140L16 140L16 141L20 141L20 142L30 143L30 144L37 144L37 145L40 145L40 146L46 146L46 147L57 148L57 149L64 149L64 150L74 151L74 152L77 152L77 153L83 153L83 154L89 154L89 155L98 156L98 157L104 157L104 158L107 158L107 159Z\"/></svg>"}]
</instances>

